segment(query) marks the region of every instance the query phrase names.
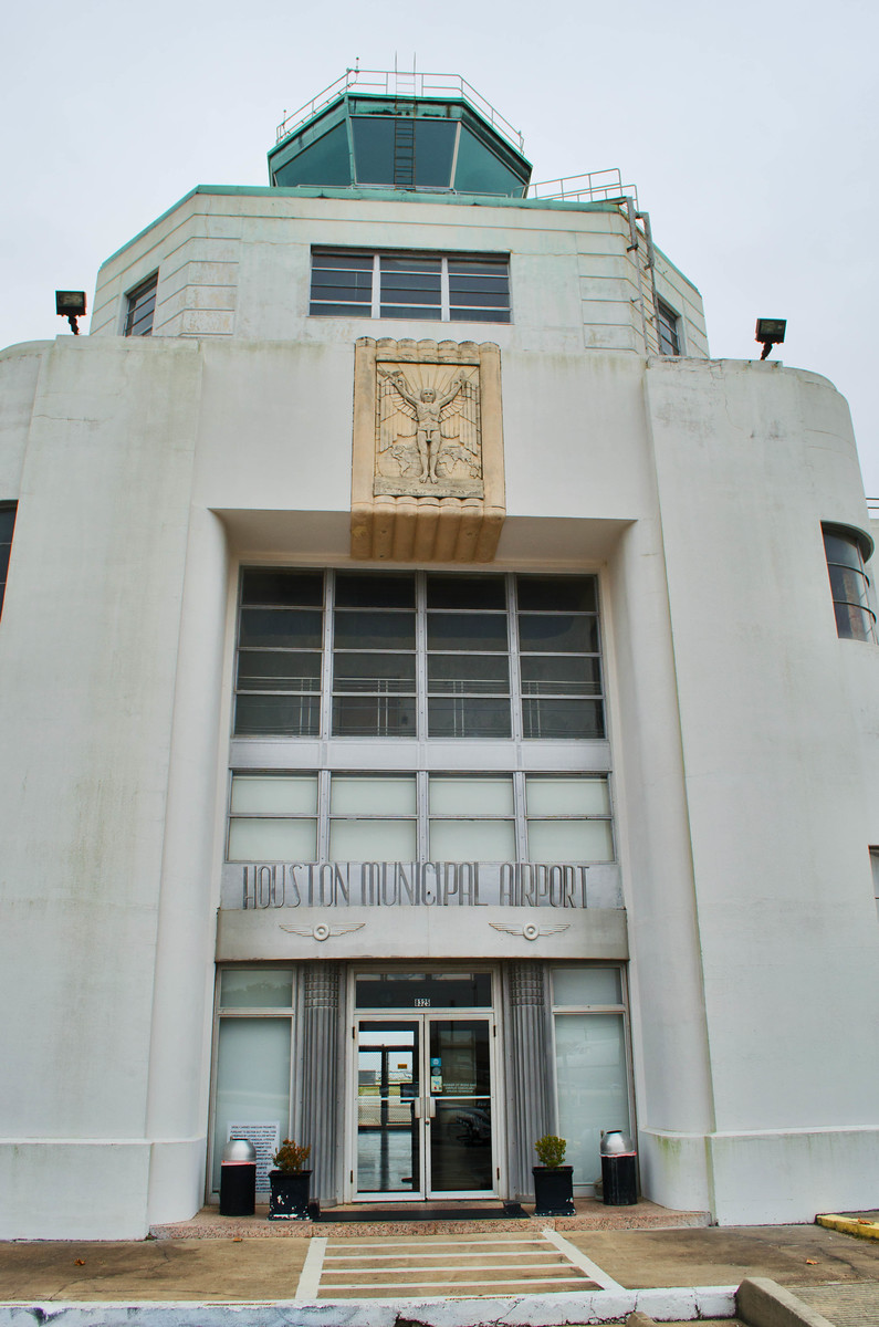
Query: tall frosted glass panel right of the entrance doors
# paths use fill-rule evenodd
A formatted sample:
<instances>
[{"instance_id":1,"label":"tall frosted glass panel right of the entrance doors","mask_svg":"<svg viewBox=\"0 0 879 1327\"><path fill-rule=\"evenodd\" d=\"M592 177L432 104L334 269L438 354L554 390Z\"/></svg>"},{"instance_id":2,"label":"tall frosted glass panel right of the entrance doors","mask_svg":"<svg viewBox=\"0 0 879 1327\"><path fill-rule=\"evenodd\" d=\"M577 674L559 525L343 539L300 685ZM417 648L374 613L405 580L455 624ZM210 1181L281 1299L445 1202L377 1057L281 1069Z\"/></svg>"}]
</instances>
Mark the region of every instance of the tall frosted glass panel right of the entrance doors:
<instances>
[{"instance_id":1,"label":"tall frosted glass panel right of the entrance doors","mask_svg":"<svg viewBox=\"0 0 879 1327\"><path fill-rule=\"evenodd\" d=\"M555 1072L564 1160L575 1184L594 1184L601 1129L631 1132L623 1015L556 1014Z\"/></svg>"}]
</instances>

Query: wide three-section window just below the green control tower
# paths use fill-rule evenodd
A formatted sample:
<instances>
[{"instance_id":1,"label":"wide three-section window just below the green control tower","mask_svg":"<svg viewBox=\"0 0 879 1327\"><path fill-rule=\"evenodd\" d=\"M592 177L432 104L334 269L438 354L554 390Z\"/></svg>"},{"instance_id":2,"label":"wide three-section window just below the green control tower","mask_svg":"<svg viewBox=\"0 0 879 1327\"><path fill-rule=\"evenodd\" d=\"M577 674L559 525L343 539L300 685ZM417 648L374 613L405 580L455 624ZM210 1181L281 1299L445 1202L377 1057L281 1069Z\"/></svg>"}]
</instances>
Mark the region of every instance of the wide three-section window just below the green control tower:
<instances>
[{"instance_id":1,"label":"wide three-section window just below the green control tower","mask_svg":"<svg viewBox=\"0 0 879 1327\"><path fill-rule=\"evenodd\" d=\"M315 249L309 312L349 318L509 322L510 261L497 253Z\"/></svg>"}]
</instances>

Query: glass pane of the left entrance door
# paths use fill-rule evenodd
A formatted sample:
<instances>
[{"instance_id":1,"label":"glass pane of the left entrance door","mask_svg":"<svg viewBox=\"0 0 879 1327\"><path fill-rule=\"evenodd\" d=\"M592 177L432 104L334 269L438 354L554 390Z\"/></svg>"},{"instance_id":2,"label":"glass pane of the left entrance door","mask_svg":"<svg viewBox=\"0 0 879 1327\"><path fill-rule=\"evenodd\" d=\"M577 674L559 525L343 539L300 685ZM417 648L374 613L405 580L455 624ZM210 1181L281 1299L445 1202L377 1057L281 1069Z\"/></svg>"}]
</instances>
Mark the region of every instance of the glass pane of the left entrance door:
<instances>
[{"instance_id":1,"label":"glass pane of the left entrance door","mask_svg":"<svg viewBox=\"0 0 879 1327\"><path fill-rule=\"evenodd\" d=\"M357 1189L421 1189L418 1023L360 1024L357 1039Z\"/></svg>"}]
</instances>

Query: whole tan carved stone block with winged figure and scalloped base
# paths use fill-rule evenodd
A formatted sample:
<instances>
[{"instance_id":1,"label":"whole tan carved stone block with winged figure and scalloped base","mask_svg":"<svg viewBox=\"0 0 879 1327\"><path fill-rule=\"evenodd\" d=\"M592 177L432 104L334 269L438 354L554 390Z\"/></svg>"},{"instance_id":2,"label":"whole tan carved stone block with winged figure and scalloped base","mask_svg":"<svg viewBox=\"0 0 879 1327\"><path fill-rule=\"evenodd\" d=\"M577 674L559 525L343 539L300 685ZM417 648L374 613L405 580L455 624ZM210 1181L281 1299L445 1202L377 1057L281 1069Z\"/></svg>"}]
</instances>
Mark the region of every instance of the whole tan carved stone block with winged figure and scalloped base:
<instances>
[{"instance_id":1,"label":"whole tan carved stone block with winged figure and scalloped base","mask_svg":"<svg viewBox=\"0 0 879 1327\"><path fill-rule=\"evenodd\" d=\"M493 342L355 348L352 557L490 561L506 515Z\"/></svg>"}]
</instances>

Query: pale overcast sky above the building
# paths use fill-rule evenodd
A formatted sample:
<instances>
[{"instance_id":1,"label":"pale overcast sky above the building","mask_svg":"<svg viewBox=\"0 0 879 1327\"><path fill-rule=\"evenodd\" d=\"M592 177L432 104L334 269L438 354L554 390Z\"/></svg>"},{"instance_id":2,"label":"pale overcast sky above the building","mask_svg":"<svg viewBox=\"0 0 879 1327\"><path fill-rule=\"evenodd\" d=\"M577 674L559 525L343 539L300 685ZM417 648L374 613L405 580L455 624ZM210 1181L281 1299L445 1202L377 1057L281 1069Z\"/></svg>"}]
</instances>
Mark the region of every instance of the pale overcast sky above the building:
<instances>
[{"instance_id":1,"label":"pale overcast sky above the building","mask_svg":"<svg viewBox=\"0 0 879 1327\"><path fill-rule=\"evenodd\" d=\"M617 166L701 289L712 354L773 358L848 398L879 496L879 5L868 0L46 0L0 52L0 346L60 334L56 288L195 184L264 184L293 111L353 65L462 74L524 133L534 178Z\"/></svg>"}]
</instances>

